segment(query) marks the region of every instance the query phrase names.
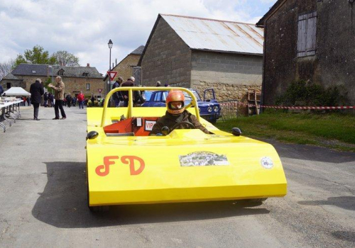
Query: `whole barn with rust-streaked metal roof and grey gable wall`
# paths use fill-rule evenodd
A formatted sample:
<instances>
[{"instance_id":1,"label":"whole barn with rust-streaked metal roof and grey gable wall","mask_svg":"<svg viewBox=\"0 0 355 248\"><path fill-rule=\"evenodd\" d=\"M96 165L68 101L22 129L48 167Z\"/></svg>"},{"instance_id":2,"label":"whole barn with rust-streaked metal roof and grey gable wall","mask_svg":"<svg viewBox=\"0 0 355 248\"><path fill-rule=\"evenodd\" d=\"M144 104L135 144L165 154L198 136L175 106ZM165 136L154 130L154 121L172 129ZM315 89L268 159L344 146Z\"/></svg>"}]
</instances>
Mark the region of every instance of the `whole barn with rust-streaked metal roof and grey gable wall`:
<instances>
[{"instance_id":1,"label":"whole barn with rust-streaked metal roof and grey gable wall","mask_svg":"<svg viewBox=\"0 0 355 248\"><path fill-rule=\"evenodd\" d=\"M261 89L263 29L253 24L159 14L138 65L144 85L156 81L218 100Z\"/></svg>"}]
</instances>

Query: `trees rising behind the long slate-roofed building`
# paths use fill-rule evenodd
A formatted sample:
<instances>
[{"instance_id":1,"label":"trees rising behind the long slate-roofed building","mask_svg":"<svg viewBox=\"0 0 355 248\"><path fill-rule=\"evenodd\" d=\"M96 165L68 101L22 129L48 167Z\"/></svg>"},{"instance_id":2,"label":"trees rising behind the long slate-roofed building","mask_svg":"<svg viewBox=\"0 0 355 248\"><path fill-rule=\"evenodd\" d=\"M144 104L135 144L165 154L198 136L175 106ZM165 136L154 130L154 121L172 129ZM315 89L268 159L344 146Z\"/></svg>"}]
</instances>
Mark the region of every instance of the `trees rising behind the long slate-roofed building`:
<instances>
[{"instance_id":1,"label":"trees rising behind the long slate-roofed building","mask_svg":"<svg viewBox=\"0 0 355 248\"><path fill-rule=\"evenodd\" d=\"M17 55L15 66L18 64L55 64L55 57L49 56L48 51L43 51L43 47L35 45L32 50L26 50L23 55Z\"/></svg>"}]
</instances>

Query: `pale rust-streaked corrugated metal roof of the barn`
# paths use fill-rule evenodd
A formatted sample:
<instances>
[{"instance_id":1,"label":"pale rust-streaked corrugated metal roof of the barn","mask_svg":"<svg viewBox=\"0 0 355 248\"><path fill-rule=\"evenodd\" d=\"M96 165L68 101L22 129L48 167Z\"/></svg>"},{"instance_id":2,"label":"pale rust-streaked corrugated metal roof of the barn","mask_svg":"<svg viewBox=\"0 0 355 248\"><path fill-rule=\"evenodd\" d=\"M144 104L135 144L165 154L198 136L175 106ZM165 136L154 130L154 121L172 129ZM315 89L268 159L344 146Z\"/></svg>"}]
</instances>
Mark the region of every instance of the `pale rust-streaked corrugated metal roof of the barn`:
<instances>
[{"instance_id":1,"label":"pale rust-streaked corrugated metal roof of the barn","mask_svg":"<svg viewBox=\"0 0 355 248\"><path fill-rule=\"evenodd\" d=\"M263 54L263 28L254 24L161 16L191 49Z\"/></svg>"}]
</instances>

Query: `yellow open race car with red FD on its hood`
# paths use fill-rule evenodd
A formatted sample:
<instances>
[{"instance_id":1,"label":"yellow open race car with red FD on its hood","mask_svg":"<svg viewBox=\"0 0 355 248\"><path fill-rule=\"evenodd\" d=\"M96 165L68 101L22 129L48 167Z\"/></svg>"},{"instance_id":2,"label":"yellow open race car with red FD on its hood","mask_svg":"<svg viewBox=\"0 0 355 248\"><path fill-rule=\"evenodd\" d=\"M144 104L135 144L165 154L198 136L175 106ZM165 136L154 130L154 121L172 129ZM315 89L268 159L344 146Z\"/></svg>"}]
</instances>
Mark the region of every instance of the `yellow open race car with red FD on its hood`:
<instances>
[{"instance_id":1,"label":"yellow open race car with red FD on its hood","mask_svg":"<svg viewBox=\"0 0 355 248\"><path fill-rule=\"evenodd\" d=\"M200 118L197 99L187 111L212 134L175 129L149 136L166 108L108 108L116 91L158 91L158 87L116 88L104 108L87 109L87 185L91 210L109 205L223 201L282 197L287 191L283 166L272 145L223 132ZM194 107L192 107L194 106ZM164 133L164 132L163 132Z\"/></svg>"}]
</instances>

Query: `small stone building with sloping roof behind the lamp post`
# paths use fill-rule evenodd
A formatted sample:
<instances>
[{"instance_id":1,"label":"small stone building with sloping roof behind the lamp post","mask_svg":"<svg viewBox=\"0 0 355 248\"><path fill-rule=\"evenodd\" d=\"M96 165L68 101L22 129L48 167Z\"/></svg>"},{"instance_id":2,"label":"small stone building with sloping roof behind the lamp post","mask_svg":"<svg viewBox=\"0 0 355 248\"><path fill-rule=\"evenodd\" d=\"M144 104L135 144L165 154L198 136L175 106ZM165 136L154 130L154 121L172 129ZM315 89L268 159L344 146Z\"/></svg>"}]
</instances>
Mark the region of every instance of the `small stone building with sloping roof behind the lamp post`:
<instances>
[{"instance_id":1,"label":"small stone building with sloping roof behind the lamp post","mask_svg":"<svg viewBox=\"0 0 355 248\"><path fill-rule=\"evenodd\" d=\"M126 79L133 76L136 79L136 84L141 84L141 67L138 67L138 61L141 58L143 50L144 46L141 45L111 69L111 71L117 72L113 81L116 81L118 77L122 77L124 81L126 81ZM107 84L109 83L109 77L107 74L104 77L104 81L106 81Z\"/></svg>"}]
</instances>

